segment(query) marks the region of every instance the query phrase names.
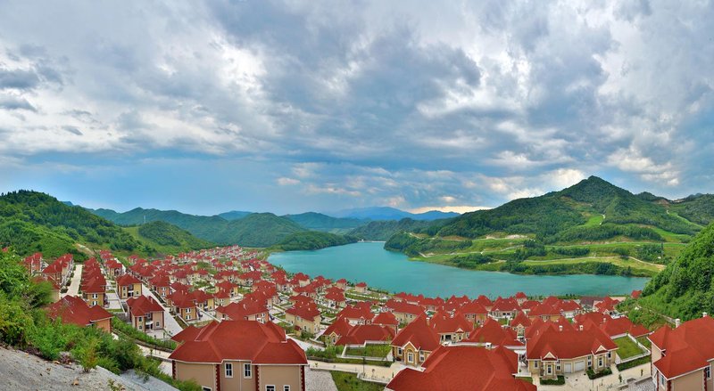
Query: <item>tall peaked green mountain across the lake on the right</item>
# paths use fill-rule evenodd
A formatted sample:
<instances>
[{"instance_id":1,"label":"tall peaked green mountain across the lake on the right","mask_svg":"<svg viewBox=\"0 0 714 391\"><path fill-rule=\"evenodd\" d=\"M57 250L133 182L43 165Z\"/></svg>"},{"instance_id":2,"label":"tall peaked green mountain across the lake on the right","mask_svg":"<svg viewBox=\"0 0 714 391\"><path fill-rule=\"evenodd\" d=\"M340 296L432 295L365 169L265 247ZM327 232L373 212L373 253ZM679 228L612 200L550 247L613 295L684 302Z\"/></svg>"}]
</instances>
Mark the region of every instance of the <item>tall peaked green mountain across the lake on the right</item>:
<instances>
[{"instance_id":1,"label":"tall peaked green mountain across the lake on the right","mask_svg":"<svg viewBox=\"0 0 714 391\"><path fill-rule=\"evenodd\" d=\"M664 240L658 229L684 235L693 235L700 229L696 224L668 215L664 206L643 200L596 176L562 191L467 213L437 228L430 230L442 237L477 238L505 232L533 234L545 243L615 237Z\"/></svg>"}]
</instances>

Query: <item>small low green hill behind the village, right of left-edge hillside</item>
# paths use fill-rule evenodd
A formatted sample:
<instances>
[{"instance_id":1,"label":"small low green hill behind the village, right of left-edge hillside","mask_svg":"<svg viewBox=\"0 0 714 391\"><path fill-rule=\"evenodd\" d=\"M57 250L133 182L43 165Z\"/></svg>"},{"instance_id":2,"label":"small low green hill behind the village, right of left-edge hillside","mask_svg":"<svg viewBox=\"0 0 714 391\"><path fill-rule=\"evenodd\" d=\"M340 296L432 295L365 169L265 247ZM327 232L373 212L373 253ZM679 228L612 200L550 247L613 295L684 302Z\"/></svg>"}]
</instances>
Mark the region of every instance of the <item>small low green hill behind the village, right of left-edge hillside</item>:
<instances>
[{"instance_id":1,"label":"small low green hill behind the village, right of left-edge hillside","mask_svg":"<svg viewBox=\"0 0 714 391\"><path fill-rule=\"evenodd\" d=\"M140 241L149 253L176 254L215 246L208 240L198 239L191 232L162 221L124 229Z\"/></svg>"}]
</instances>

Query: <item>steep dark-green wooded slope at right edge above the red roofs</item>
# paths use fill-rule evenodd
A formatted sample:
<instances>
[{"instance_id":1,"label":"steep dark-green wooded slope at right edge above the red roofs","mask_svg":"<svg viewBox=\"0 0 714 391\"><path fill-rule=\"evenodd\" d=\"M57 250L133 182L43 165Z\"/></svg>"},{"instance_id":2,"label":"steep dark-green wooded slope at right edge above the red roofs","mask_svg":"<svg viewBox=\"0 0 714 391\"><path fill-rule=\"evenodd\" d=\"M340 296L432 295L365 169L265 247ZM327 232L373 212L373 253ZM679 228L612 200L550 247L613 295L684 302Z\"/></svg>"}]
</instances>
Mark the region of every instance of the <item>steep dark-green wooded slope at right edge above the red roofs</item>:
<instances>
[{"instance_id":1,"label":"steep dark-green wooded slope at right edge above the red roofs","mask_svg":"<svg viewBox=\"0 0 714 391\"><path fill-rule=\"evenodd\" d=\"M688 320L714 314L714 224L702 230L692 242L643 289L639 300L673 318Z\"/></svg>"}]
</instances>

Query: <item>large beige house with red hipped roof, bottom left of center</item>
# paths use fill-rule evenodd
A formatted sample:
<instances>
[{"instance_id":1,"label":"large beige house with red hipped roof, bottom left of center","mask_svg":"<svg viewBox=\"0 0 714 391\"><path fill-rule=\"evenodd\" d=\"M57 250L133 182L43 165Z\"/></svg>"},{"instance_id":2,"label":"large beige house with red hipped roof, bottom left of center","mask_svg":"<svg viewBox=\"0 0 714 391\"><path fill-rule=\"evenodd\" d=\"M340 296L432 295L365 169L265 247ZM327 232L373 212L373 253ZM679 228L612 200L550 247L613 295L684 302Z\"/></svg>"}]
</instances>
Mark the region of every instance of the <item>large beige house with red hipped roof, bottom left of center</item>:
<instances>
[{"instance_id":1,"label":"large beige house with red hipped roof, bottom left of center","mask_svg":"<svg viewBox=\"0 0 714 391\"><path fill-rule=\"evenodd\" d=\"M173 379L193 379L204 391L305 391L305 353L272 322L211 322L172 339Z\"/></svg>"}]
</instances>

